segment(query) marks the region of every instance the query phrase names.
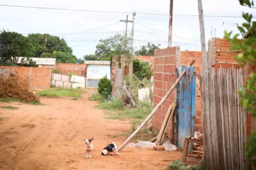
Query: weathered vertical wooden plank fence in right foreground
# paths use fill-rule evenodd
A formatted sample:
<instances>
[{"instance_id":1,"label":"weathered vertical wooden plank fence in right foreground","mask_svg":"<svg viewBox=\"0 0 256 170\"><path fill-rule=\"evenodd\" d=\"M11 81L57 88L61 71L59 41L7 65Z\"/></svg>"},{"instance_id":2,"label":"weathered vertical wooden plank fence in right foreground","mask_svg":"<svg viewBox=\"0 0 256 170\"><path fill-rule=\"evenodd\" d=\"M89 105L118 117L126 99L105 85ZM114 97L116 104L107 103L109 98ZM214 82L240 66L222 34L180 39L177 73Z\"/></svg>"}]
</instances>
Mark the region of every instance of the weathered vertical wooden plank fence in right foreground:
<instances>
[{"instance_id":1,"label":"weathered vertical wooden plank fence in right foreground","mask_svg":"<svg viewBox=\"0 0 256 170\"><path fill-rule=\"evenodd\" d=\"M247 113L238 103L241 69L201 71L204 161L207 170L248 170Z\"/></svg>"}]
</instances>

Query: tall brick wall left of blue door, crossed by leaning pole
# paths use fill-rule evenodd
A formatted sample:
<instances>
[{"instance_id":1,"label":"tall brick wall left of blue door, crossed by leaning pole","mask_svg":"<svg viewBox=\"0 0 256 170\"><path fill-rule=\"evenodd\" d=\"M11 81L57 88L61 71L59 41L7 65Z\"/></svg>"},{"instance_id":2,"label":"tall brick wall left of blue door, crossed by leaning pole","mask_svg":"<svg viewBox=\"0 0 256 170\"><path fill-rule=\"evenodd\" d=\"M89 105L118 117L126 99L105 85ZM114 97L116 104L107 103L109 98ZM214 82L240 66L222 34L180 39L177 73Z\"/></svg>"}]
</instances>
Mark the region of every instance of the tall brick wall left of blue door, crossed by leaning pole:
<instances>
[{"instance_id":1,"label":"tall brick wall left of blue door, crossed by leaning pole","mask_svg":"<svg viewBox=\"0 0 256 170\"><path fill-rule=\"evenodd\" d=\"M154 107L161 101L162 97L170 89L177 79L176 56L180 55L180 47L155 50L154 56ZM176 89L166 99L164 104L153 116L152 124L155 129L160 130L170 103L176 102ZM174 121L170 121L166 131L168 136L174 139Z\"/></svg>"}]
</instances>

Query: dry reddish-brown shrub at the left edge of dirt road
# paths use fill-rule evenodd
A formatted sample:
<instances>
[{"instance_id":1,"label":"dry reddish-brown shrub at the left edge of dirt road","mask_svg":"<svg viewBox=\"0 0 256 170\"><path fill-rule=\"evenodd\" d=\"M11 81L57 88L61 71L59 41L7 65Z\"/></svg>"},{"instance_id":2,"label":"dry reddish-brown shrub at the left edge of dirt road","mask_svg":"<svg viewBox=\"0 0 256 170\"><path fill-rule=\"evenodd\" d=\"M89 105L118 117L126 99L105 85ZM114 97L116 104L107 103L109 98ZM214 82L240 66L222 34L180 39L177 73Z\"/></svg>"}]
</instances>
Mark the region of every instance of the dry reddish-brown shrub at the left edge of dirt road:
<instances>
[{"instance_id":1,"label":"dry reddish-brown shrub at the left edge of dirt road","mask_svg":"<svg viewBox=\"0 0 256 170\"><path fill-rule=\"evenodd\" d=\"M23 102L40 102L29 86L28 78L21 78L17 72L14 77L0 76L0 98L16 98Z\"/></svg>"}]
</instances>

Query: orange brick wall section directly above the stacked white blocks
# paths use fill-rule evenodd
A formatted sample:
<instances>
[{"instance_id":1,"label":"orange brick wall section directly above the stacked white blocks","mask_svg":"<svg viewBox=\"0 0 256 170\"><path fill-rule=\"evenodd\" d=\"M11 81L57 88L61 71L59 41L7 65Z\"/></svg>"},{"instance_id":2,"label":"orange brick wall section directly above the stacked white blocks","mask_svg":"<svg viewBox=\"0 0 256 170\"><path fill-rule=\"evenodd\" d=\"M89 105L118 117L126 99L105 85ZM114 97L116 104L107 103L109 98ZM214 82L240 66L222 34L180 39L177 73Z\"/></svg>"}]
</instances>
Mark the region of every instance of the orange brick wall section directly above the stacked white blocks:
<instances>
[{"instance_id":1,"label":"orange brick wall section directly above the stacked white blocks","mask_svg":"<svg viewBox=\"0 0 256 170\"><path fill-rule=\"evenodd\" d=\"M86 65L87 64L56 63L56 70L63 75L74 74L82 76L82 72L86 68Z\"/></svg>"}]
</instances>

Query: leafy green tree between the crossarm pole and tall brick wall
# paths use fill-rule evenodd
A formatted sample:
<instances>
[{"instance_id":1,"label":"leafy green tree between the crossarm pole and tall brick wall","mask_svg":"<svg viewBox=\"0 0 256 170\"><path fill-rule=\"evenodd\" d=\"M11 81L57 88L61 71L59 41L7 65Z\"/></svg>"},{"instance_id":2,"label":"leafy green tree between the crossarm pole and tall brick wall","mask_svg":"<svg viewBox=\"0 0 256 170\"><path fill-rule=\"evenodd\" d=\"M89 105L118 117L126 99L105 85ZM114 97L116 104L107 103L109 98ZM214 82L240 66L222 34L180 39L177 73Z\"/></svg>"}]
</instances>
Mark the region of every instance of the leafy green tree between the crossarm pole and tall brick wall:
<instances>
[{"instance_id":1,"label":"leafy green tree between the crossarm pole and tall brick wall","mask_svg":"<svg viewBox=\"0 0 256 170\"><path fill-rule=\"evenodd\" d=\"M142 80L144 78L151 78L153 71L149 63L135 59L133 60L133 73L138 79Z\"/></svg>"}]
</instances>

